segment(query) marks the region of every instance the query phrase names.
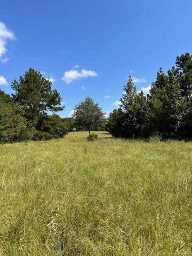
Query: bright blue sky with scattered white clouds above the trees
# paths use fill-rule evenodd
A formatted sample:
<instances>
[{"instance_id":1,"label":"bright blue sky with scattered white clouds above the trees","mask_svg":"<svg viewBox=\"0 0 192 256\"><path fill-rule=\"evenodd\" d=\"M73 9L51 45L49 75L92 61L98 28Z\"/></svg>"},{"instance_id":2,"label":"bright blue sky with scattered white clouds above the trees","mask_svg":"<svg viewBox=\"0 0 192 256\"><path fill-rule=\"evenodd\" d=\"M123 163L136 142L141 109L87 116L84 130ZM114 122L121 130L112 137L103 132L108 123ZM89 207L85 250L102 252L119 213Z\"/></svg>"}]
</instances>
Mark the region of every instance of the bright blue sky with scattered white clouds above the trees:
<instances>
[{"instance_id":1,"label":"bright blue sky with scattered white clouds above the trees","mask_svg":"<svg viewBox=\"0 0 192 256\"><path fill-rule=\"evenodd\" d=\"M42 71L65 103L61 116L85 96L108 114L130 74L147 91L160 67L192 54L191 0L6 0L0 21L0 89Z\"/></svg>"}]
</instances>

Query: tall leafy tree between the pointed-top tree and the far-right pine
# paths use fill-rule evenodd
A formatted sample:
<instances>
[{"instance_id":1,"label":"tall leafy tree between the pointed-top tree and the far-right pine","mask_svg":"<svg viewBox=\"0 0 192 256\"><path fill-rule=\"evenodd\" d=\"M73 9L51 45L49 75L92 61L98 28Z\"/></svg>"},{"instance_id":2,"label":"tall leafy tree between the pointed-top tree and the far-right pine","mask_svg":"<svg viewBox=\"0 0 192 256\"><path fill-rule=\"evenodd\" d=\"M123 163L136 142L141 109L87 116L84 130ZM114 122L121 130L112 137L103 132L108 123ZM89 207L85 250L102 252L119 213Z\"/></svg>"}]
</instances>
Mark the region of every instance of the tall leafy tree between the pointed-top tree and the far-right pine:
<instances>
[{"instance_id":1,"label":"tall leafy tree between the pointed-top tree and the far-right pine","mask_svg":"<svg viewBox=\"0 0 192 256\"><path fill-rule=\"evenodd\" d=\"M180 82L174 72L165 75L162 69L150 90L150 125L153 132L160 132L164 138L174 138L183 120L185 99Z\"/></svg>"}]
</instances>

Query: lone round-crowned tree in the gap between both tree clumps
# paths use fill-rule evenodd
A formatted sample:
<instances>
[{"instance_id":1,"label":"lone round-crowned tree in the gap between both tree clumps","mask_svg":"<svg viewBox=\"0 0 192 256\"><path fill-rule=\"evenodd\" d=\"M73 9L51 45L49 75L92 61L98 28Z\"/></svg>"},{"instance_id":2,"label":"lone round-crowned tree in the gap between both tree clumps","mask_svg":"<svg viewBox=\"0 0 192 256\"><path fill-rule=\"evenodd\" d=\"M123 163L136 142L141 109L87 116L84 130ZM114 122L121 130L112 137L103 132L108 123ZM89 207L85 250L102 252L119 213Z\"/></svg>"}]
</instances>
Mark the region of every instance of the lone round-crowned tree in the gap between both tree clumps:
<instances>
[{"instance_id":1,"label":"lone round-crowned tree in the gap between both tree clumps","mask_svg":"<svg viewBox=\"0 0 192 256\"><path fill-rule=\"evenodd\" d=\"M105 120L99 104L94 103L94 100L90 97L86 97L74 107L72 116L78 125L86 127L89 134L93 127L100 126Z\"/></svg>"}]
</instances>

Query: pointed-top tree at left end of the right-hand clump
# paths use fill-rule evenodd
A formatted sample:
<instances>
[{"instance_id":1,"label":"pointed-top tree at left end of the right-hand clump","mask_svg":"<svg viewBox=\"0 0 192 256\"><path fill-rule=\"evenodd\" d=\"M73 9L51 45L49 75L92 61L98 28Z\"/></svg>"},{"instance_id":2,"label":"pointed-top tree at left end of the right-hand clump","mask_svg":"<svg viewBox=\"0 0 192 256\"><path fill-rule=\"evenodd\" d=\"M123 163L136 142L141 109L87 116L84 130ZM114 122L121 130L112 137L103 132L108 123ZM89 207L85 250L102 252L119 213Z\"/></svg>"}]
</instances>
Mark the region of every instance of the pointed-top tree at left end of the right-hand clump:
<instances>
[{"instance_id":1,"label":"pointed-top tree at left end of the right-hand clump","mask_svg":"<svg viewBox=\"0 0 192 256\"><path fill-rule=\"evenodd\" d=\"M148 103L143 92L137 93L131 76L123 86L121 108L113 110L108 119L108 129L114 137L132 138L141 136L147 120Z\"/></svg>"}]
</instances>

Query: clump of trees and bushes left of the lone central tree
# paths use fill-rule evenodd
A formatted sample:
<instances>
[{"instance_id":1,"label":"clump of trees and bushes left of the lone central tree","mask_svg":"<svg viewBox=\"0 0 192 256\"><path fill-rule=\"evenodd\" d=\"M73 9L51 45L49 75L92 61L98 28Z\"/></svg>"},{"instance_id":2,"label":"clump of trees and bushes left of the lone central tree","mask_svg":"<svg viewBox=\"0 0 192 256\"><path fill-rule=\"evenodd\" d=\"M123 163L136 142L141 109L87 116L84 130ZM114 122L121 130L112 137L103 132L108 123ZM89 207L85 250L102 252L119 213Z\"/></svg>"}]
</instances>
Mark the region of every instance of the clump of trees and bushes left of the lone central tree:
<instances>
[{"instance_id":1,"label":"clump of trees and bushes left of the lone central tree","mask_svg":"<svg viewBox=\"0 0 192 256\"><path fill-rule=\"evenodd\" d=\"M50 80L30 68L19 82L14 80L12 98L0 90L0 141L16 142L34 138L48 140L62 138L67 133L66 122L56 112L61 97L51 89ZM34 133L34 137L33 137Z\"/></svg>"}]
</instances>

